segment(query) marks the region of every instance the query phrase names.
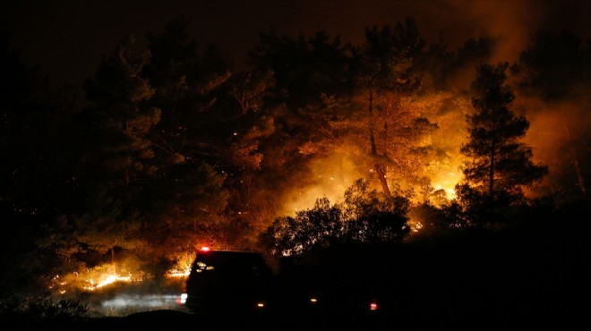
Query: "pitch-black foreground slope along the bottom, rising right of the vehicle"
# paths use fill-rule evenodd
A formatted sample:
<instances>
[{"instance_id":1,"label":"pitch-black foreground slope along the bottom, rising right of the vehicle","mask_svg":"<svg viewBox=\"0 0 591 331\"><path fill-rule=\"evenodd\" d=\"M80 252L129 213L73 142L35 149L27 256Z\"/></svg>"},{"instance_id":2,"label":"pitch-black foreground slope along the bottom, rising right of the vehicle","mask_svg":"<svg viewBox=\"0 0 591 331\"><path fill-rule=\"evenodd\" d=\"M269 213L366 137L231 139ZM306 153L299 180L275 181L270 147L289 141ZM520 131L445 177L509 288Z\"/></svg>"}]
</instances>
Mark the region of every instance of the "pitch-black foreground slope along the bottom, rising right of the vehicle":
<instances>
[{"instance_id":1,"label":"pitch-black foreground slope along the bottom, rising right of the vehicle","mask_svg":"<svg viewBox=\"0 0 591 331\"><path fill-rule=\"evenodd\" d=\"M285 293L277 293L289 301L312 285L330 288L322 294L332 302L322 309L155 310L121 318L61 320L0 316L0 323L6 331L591 329L587 233L541 234L529 240L523 235L492 241L471 237L443 246L326 252L321 275L306 274L304 279L292 274L282 283ZM352 307L347 300L366 290L375 294L379 310L347 310Z\"/></svg>"}]
</instances>

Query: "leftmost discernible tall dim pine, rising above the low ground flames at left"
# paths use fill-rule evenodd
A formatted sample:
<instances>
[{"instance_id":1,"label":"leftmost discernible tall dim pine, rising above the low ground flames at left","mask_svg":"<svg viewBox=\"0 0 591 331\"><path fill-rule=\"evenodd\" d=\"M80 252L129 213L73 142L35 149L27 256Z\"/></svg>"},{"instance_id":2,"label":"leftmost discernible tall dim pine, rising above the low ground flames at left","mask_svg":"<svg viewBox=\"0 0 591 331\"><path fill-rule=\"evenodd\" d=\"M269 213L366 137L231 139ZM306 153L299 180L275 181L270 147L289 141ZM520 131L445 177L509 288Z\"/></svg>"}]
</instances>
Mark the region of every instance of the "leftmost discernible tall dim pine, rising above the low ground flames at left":
<instances>
[{"instance_id":1,"label":"leftmost discernible tall dim pine, rising above the low ground flames at left","mask_svg":"<svg viewBox=\"0 0 591 331\"><path fill-rule=\"evenodd\" d=\"M149 55L134 55L134 42L133 36L123 38L84 84L89 105L78 120L87 200L83 215L64 228L74 226L76 240L97 250L137 244L131 238L138 239L134 232L150 206L145 184L158 171L149 134L160 110L146 103L154 89L140 72Z\"/></svg>"}]
</instances>

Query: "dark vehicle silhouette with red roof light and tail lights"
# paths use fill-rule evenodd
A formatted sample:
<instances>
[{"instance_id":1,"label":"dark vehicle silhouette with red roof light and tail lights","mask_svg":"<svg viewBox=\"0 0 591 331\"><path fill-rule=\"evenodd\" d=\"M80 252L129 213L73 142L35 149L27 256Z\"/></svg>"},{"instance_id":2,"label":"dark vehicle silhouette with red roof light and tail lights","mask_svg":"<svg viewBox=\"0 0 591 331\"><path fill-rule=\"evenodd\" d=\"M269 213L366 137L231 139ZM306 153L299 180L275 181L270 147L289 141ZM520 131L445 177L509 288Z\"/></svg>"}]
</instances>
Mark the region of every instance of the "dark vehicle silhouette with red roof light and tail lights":
<instances>
[{"instance_id":1,"label":"dark vehicle silhouette with red roof light and tail lights","mask_svg":"<svg viewBox=\"0 0 591 331\"><path fill-rule=\"evenodd\" d=\"M208 317L228 313L279 319L376 316L383 309L373 287L375 278L363 274L347 263L284 263L274 274L261 252L201 249L185 284L184 306Z\"/></svg>"}]
</instances>

